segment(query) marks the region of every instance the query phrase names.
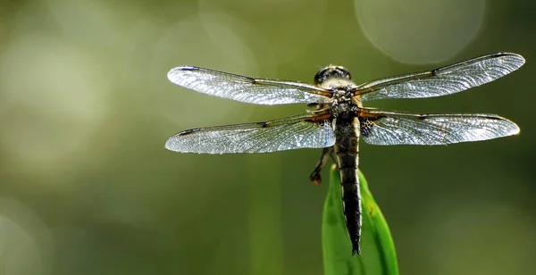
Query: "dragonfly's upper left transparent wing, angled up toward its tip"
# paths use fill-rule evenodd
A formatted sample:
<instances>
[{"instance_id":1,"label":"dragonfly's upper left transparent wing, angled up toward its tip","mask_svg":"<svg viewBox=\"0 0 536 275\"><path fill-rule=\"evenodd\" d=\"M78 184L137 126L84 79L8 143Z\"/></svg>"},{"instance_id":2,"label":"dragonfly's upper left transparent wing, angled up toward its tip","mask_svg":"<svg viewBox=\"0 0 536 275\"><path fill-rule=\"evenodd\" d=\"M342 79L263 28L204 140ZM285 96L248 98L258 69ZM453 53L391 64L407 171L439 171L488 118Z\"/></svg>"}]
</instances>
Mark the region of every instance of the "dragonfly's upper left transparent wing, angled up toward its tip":
<instances>
[{"instance_id":1,"label":"dragonfly's upper left transparent wing, angled up toward its tip","mask_svg":"<svg viewBox=\"0 0 536 275\"><path fill-rule=\"evenodd\" d=\"M314 85L276 79L254 79L198 67L177 67L168 72L173 83L211 96L249 104L322 102L328 90Z\"/></svg>"}]
</instances>

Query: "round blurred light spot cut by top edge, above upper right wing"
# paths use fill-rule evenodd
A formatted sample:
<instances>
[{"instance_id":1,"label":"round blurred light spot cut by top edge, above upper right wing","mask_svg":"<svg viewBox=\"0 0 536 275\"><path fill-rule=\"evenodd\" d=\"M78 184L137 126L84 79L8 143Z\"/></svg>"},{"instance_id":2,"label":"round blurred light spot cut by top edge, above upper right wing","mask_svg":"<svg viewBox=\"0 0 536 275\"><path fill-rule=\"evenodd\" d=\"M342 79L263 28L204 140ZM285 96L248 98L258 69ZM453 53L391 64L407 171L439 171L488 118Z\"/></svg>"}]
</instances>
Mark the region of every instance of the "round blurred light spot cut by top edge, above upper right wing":
<instances>
[{"instance_id":1,"label":"round blurred light spot cut by top edge, above upper right wing","mask_svg":"<svg viewBox=\"0 0 536 275\"><path fill-rule=\"evenodd\" d=\"M439 63L459 53L482 25L484 0L356 0L366 37L401 63Z\"/></svg>"}]
</instances>

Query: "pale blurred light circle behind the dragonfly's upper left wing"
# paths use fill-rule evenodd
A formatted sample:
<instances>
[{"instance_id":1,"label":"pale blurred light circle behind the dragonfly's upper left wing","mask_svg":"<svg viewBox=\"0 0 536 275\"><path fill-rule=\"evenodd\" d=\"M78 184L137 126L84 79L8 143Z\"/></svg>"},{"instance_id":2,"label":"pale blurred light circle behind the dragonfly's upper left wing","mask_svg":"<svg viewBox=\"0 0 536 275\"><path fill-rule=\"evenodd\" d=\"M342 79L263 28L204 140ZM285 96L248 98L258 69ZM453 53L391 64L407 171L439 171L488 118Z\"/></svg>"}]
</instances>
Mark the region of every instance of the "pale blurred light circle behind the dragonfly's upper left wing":
<instances>
[{"instance_id":1,"label":"pale blurred light circle behind the dragonfly's upper left wing","mask_svg":"<svg viewBox=\"0 0 536 275\"><path fill-rule=\"evenodd\" d=\"M190 17L172 25L162 34L159 44L156 46L156 52L159 55L156 56L154 64L155 70L162 71L162 68L166 68L166 71L162 71L155 82L172 92L170 95L157 96L160 102L155 110L161 112L167 120L174 123L198 124L203 122L210 125L222 123L238 116L242 119L247 118L248 112L233 112L236 110L237 103L195 93L172 85L165 78L165 73L168 70L181 65L195 65L219 71L255 75L255 71L257 71L255 58L247 43L239 32L232 29L232 26L235 24L227 16L215 13L200 14L198 17ZM197 36L197 39L188 39L188 37L194 36ZM201 105L206 110L218 110L218 115L214 115L215 113L203 115L199 112ZM188 120L185 120L185 113L197 113L198 115L188 115ZM183 125L179 128L191 127L194 124Z\"/></svg>"}]
</instances>

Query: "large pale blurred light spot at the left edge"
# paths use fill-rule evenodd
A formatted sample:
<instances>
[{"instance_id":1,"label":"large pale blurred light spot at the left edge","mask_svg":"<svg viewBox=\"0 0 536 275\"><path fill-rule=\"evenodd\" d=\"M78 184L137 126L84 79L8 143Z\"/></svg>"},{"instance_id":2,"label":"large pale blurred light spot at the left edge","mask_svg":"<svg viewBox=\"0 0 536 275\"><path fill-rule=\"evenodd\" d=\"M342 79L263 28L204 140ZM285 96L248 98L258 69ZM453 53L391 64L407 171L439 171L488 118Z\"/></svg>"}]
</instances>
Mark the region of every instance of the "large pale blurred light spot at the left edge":
<instances>
[{"instance_id":1,"label":"large pale blurred light spot at the left edge","mask_svg":"<svg viewBox=\"0 0 536 275\"><path fill-rule=\"evenodd\" d=\"M37 46L38 45L38 46ZM95 56L46 36L14 39L0 59L0 144L32 172L62 165L105 118L107 87Z\"/></svg>"}]
</instances>

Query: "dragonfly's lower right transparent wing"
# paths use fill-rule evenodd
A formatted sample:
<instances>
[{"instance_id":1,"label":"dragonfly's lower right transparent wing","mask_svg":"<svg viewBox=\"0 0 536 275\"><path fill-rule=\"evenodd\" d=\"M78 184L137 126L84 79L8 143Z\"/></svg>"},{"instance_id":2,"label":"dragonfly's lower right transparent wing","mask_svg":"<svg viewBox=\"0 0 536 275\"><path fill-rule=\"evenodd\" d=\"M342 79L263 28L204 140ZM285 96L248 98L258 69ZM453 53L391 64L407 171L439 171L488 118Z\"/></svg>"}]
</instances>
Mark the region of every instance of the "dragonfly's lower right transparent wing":
<instances>
[{"instance_id":1,"label":"dragonfly's lower right transparent wing","mask_svg":"<svg viewBox=\"0 0 536 275\"><path fill-rule=\"evenodd\" d=\"M364 141L377 146L437 146L519 133L514 122L495 114L416 114L364 109L360 121Z\"/></svg>"}]
</instances>

